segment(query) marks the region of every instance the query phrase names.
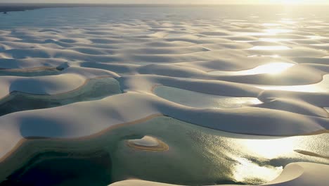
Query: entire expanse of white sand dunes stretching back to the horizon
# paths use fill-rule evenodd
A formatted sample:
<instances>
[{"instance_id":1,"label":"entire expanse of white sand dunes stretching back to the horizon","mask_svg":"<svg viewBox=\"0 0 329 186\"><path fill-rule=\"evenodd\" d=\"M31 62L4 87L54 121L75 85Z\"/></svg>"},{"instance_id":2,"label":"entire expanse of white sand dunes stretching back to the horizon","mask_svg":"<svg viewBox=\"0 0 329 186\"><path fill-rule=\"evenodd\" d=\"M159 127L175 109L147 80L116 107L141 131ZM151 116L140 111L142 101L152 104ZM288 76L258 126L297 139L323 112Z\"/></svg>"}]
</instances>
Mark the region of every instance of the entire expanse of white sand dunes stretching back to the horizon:
<instances>
[{"instance_id":1,"label":"entire expanse of white sand dunes stretching back to the horizon","mask_svg":"<svg viewBox=\"0 0 329 186\"><path fill-rule=\"evenodd\" d=\"M1 100L13 92L70 94L101 77L115 78L124 94L0 116L0 160L26 138L77 140L156 116L245 135L328 135L327 12L217 8L1 14ZM154 153L171 148L143 136L127 142ZM328 165L292 163L266 185L322 186L328 173Z\"/></svg>"}]
</instances>

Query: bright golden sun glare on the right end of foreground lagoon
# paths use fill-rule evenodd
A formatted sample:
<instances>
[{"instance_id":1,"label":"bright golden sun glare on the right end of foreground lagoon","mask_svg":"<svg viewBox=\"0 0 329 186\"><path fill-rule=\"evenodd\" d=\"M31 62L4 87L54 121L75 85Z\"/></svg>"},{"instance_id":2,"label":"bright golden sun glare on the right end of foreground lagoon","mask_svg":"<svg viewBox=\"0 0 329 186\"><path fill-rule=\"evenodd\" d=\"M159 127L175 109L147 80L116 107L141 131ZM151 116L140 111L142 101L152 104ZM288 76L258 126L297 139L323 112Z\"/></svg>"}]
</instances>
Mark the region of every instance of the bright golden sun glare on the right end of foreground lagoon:
<instances>
[{"instance_id":1,"label":"bright golden sun glare on the right end of foreground lagoon","mask_svg":"<svg viewBox=\"0 0 329 186\"><path fill-rule=\"evenodd\" d=\"M214 154L220 152L230 157L233 162L232 179L236 182L259 184L269 182L280 175L288 163L310 161L329 163L328 159L318 156L299 154L296 150L310 151L321 156L328 156L329 134L296 136L296 137L264 137L238 135L228 132L210 132L202 134L207 150ZM311 154L309 153L309 154Z\"/></svg>"}]
</instances>

